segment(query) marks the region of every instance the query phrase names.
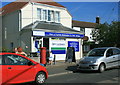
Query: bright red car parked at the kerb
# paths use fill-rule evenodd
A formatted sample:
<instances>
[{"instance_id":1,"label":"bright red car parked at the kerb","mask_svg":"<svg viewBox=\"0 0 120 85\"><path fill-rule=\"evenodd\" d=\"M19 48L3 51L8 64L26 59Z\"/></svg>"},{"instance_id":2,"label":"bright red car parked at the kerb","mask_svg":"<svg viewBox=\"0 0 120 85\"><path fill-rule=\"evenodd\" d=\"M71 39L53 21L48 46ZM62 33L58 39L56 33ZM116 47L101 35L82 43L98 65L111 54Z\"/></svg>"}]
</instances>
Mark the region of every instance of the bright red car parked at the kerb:
<instances>
[{"instance_id":1,"label":"bright red car parked at the kerb","mask_svg":"<svg viewBox=\"0 0 120 85\"><path fill-rule=\"evenodd\" d=\"M35 81L44 83L48 78L45 67L20 54L0 53L0 85Z\"/></svg>"}]
</instances>

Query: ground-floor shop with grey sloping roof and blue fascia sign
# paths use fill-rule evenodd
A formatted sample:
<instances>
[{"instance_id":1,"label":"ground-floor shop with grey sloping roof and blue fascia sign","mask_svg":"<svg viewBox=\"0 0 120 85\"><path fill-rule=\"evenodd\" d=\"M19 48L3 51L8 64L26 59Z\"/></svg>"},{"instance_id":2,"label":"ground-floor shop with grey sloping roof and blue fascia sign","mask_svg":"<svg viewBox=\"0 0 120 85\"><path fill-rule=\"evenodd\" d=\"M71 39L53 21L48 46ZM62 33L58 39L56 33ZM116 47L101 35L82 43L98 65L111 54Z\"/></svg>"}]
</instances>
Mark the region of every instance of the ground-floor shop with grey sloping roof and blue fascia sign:
<instances>
[{"instance_id":1,"label":"ground-floor shop with grey sloping roof and blue fascia sign","mask_svg":"<svg viewBox=\"0 0 120 85\"><path fill-rule=\"evenodd\" d=\"M28 53L40 53L41 47L51 51L56 60L65 60L69 50L76 59L82 57L83 33L60 23L36 22L26 26L21 33L21 46L28 46ZM71 55L71 54L70 54ZM48 56L48 55L47 55Z\"/></svg>"}]
</instances>

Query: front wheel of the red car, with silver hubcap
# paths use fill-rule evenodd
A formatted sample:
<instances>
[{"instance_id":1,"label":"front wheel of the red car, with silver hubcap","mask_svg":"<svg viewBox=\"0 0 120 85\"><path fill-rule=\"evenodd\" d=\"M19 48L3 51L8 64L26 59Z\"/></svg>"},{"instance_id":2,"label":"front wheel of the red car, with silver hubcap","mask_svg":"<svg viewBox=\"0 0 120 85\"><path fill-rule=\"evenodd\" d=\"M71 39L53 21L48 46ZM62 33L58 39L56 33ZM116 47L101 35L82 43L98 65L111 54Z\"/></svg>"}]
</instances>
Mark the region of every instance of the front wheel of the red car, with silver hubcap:
<instances>
[{"instance_id":1,"label":"front wheel of the red car, with silver hubcap","mask_svg":"<svg viewBox=\"0 0 120 85\"><path fill-rule=\"evenodd\" d=\"M46 80L46 75L44 72L39 72L37 75L36 75L36 79L35 79L35 82L39 85L39 84L43 84Z\"/></svg>"}]
</instances>

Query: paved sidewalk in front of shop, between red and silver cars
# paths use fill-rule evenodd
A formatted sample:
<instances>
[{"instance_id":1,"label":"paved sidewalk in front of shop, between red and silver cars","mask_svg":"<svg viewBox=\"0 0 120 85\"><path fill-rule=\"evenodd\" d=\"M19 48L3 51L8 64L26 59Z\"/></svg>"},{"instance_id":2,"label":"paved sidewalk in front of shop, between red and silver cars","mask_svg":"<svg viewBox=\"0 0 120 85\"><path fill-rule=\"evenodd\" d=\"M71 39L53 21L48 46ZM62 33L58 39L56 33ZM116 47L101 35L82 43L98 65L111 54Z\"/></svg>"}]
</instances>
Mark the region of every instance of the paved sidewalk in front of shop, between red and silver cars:
<instances>
[{"instance_id":1,"label":"paved sidewalk in front of shop, between red and silver cars","mask_svg":"<svg viewBox=\"0 0 120 85\"><path fill-rule=\"evenodd\" d=\"M31 59L40 63L40 59L38 57L31 57ZM56 75L72 73L76 69L76 63L75 62L68 63L65 61L56 61L55 63L53 62L52 65L46 65L45 67L48 70L49 76L53 77Z\"/></svg>"}]
</instances>

